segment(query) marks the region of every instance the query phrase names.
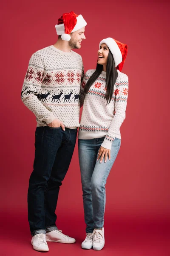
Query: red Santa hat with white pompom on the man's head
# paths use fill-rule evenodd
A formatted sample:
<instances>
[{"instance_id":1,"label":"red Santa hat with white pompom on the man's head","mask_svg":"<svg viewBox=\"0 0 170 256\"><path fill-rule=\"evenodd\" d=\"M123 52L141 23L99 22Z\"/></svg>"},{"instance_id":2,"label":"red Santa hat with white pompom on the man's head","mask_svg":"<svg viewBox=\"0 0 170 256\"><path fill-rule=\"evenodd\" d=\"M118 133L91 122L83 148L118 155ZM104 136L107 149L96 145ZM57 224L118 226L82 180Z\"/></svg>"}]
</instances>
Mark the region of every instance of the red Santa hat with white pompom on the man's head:
<instances>
[{"instance_id":1,"label":"red Santa hat with white pompom on the man's head","mask_svg":"<svg viewBox=\"0 0 170 256\"><path fill-rule=\"evenodd\" d=\"M77 15L74 12L63 13L59 18L58 24L55 26L57 35L62 35L62 40L70 41L72 32L82 29L87 23L82 15Z\"/></svg>"}]
</instances>

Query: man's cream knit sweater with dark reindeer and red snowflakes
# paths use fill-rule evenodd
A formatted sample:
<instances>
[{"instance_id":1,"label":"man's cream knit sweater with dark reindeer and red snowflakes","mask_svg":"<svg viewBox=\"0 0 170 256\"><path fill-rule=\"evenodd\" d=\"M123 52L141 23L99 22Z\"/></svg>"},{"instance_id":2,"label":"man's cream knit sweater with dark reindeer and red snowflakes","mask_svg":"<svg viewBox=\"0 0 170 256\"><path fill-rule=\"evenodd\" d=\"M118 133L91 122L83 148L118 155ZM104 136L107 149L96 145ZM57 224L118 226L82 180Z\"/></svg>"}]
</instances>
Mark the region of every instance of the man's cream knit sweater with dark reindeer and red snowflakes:
<instances>
[{"instance_id":1,"label":"man's cream knit sweater with dark reindeer and red snowflakes","mask_svg":"<svg viewBox=\"0 0 170 256\"><path fill-rule=\"evenodd\" d=\"M84 76L82 57L54 46L35 52L29 61L21 92L37 126L59 119L65 127L79 127L79 95Z\"/></svg>"}]
</instances>

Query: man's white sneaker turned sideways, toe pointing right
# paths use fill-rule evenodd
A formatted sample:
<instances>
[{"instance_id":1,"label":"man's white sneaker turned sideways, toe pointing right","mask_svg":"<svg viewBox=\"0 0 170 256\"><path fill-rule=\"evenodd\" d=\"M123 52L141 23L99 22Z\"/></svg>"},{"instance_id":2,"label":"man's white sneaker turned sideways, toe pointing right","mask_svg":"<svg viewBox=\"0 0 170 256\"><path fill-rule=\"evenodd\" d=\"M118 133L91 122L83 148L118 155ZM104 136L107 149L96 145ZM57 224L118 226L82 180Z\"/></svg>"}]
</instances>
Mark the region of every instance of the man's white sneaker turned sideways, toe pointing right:
<instances>
[{"instance_id":1,"label":"man's white sneaker turned sideways, toe pointing right","mask_svg":"<svg viewBox=\"0 0 170 256\"><path fill-rule=\"evenodd\" d=\"M75 243L76 240L72 237L64 235L62 233L62 230L52 230L46 233L46 241L64 243L64 244L73 244Z\"/></svg>"}]
</instances>

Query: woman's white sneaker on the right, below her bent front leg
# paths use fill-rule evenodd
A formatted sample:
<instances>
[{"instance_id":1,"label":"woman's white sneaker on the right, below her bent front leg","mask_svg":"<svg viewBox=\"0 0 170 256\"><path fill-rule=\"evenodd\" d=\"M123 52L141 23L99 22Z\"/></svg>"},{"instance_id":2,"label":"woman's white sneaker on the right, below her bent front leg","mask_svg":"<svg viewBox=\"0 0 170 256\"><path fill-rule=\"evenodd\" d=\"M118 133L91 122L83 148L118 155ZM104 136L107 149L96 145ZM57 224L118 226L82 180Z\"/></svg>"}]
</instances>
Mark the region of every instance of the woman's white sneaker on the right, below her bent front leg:
<instances>
[{"instance_id":1,"label":"woman's white sneaker on the right, below her bent front leg","mask_svg":"<svg viewBox=\"0 0 170 256\"><path fill-rule=\"evenodd\" d=\"M93 249L94 250L102 250L105 245L105 236L104 236L104 227L102 230L94 230L93 231Z\"/></svg>"}]
</instances>

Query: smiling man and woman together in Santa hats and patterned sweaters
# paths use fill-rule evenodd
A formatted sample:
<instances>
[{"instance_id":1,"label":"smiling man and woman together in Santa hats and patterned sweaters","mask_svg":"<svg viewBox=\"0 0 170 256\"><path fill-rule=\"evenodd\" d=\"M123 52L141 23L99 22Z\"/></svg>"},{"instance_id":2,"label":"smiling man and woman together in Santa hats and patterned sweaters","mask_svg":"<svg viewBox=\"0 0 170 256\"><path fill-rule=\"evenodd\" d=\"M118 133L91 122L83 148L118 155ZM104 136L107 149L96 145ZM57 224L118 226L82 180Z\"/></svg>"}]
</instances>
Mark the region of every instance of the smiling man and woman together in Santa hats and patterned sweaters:
<instances>
[{"instance_id":1,"label":"smiling man and woman together in Santa hats and patterned sweaters","mask_svg":"<svg viewBox=\"0 0 170 256\"><path fill-rule=\"evenodd\" d=\"M119 129L125 119L128 78L121 70L127 45L112 38L102 40L96 70L84 75L82 57L71 49L81 48L86 25L82 15L74 12L59 18L57 43L31 56L21 93L37 120L28 221L31 244L38 251L49 250L47 241L75 242L58 230L55 210L78 127L86 223L82 248L101 250L105 244L105 184L120 148Z\"/></svg>"}]
</instances>

